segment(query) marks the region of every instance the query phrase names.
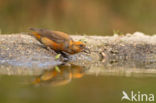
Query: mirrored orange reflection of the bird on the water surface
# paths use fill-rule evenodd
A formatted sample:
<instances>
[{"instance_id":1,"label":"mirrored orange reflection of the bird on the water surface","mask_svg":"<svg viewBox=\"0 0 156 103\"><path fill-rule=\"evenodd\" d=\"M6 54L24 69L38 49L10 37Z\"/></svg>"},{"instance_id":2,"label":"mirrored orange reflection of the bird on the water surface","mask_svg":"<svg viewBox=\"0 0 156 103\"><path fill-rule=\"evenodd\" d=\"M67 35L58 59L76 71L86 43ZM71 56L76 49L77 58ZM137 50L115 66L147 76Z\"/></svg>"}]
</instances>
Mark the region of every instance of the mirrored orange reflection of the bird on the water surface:
<instances>
[{"instance_id":1,"label":"mirrored orange reflection of the bird on the water surface","mask_svg":"<svg viewBox=\"0 0 156 103\"><path fill-rule=\"evenodd\" d=\"M74 64L59 65L57 68L59 71L55 67L50 70L43 71L40 76L35 78L33 84L48 84L52 86L65 85L71 82L73 78L81 78L86 71L85 68Z\"/></svg>"}]
</instances>

